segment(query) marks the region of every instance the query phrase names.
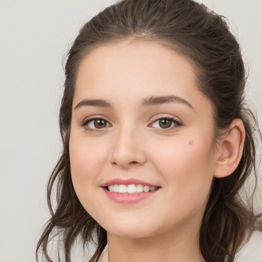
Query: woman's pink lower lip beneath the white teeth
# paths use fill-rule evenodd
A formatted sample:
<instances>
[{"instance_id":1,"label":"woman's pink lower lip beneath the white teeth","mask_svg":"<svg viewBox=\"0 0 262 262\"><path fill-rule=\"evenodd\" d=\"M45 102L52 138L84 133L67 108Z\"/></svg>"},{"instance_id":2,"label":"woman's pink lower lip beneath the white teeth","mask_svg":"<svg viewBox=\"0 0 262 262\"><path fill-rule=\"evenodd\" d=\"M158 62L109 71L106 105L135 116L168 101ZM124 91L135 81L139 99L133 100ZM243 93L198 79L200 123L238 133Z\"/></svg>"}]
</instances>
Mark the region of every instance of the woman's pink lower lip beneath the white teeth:
<instances>
[{"instance_id":1,"label":"woman's pink lower lip beneath the white teeth","mask_svg":"<svg viewBox=\"0 0 262 262\"><path fill-rule=\"evenodd\" d=\"M141 193L135 193L135 194L111 192L111 191L106 190L105 188L103 188L103 190L105 194L107 195L107 197L115 202L122 203L122 204L133 204L143 199L151 197L151 195L156 193L159 190L159 188L154 191L141 192Z\"/></svg>"}]
</instances>

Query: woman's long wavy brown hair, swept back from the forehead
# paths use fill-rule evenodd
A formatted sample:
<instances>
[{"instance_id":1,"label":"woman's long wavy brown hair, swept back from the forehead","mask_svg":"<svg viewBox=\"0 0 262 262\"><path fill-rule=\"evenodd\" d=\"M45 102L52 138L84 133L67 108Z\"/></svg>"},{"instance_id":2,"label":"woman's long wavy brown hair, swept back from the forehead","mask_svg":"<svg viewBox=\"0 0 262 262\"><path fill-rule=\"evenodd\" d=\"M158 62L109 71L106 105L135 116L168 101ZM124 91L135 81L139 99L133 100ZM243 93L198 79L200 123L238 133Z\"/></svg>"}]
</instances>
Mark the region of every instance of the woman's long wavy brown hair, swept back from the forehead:
<instances>
[{"instance_id":1,"label":"woman's long wavy brown hair, swept back from the forehead","mask_svg":"<svg viewBox=\"0 0 262 262\"><path fill-rule=\"evenodd\" d=\"M51 219L36 249L47 261L52 259L48 243L62 235L65 261L77 237L83 247L96 238L97 249L90 261L98 261L107 243L106 231L84 210L75 193L69 158L70 123L76 73L81 59L104 43L121 39L150 39L163 43L195 66L199 89L212 102L216 138L233 119L242 119L246 139L241 162L226 178L214 178L200 231L200 248L208 262L233 261L236 252L258 225L259 215L252 201L245 204L241 190L251 176L256 186L257 121L244 103L246 73L241 49L223 16L191 0L124 0L93 17L80 30L65 64L64 93L60 107L62 155L48 183ZM56 187L56 207L51 196ZM249 200L253 199L251 193Z\"/></svg>"}]
</instances>

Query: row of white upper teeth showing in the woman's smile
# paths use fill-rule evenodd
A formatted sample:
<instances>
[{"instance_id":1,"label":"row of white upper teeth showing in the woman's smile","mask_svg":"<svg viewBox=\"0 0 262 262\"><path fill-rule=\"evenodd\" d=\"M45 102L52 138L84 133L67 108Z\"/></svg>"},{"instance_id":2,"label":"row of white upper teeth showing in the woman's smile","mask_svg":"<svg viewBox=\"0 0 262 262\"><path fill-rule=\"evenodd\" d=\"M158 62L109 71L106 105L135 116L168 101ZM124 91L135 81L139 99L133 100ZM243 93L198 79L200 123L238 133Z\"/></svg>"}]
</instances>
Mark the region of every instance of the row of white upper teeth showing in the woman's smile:
<instances>
[{"instance_id":1,"label":"row of white upper teeth showing in the woman's smile","mask_svg":"<svg viewBox=\"0 0 262 262\"><path fill-rule=\"evenodd\" d=\"M132 193L141 193L141 192L149 192L149 191L154 191L157 189L156 186L143 186L141 184L139 185L135 185L135 184L131 184L131 185L110 185L107 187L109 191L111 192L116 192L116 193L128 193L128 194L132 194Z\"/></svg>"}]
</instances>

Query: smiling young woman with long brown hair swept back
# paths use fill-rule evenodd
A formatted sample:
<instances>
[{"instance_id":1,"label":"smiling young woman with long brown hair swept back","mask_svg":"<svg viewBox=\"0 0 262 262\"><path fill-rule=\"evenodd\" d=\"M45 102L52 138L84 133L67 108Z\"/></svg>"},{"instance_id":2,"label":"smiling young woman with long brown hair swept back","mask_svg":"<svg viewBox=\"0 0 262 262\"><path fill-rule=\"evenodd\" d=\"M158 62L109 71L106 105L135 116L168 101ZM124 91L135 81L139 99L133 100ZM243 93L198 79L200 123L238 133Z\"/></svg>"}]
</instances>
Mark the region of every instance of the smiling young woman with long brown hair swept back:
<instances>
[{"instance_id":1,"label":"smiling young woman with long brown hair swept back","mask_svg":"<svg viewBox=\"0 0 262 262\"><path fill-rule=\"evenodd\" d=\"M261 230L241 194L258 127L223 17L190 0L121 1L82 27L65 76L37 255L52 261L60 234L68 262L78 237L97 243L92 262L233 261Z\"/></svg>"}]
</instances>

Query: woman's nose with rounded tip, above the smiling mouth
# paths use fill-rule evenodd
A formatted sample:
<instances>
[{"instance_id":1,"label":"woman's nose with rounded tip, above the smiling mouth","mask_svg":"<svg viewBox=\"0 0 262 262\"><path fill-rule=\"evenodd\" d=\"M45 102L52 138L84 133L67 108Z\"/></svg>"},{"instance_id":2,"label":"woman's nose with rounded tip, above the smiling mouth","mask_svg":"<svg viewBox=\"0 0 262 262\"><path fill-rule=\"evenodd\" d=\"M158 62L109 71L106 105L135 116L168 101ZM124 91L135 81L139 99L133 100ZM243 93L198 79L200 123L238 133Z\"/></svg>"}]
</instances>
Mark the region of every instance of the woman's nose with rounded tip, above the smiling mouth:
<instances>
[{"instance_id":1,"label":"woman's nose with rounded tip, above the smiling mouth","mask_svg":"<svg viewBox=\"0 0 262 262\"><path fill-rule=\"evenodd\" d=\"M120 130L112 139L110 162L123 169L143 165L146 155L142 140L134 130Z\"/></svg>"}]
</instances>

